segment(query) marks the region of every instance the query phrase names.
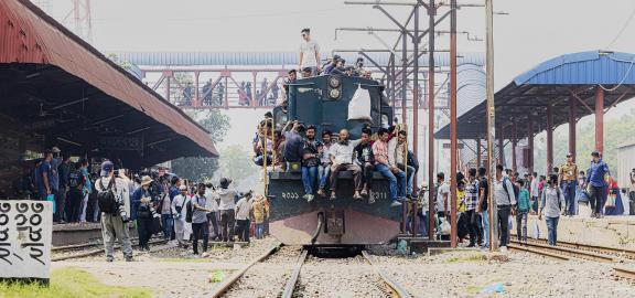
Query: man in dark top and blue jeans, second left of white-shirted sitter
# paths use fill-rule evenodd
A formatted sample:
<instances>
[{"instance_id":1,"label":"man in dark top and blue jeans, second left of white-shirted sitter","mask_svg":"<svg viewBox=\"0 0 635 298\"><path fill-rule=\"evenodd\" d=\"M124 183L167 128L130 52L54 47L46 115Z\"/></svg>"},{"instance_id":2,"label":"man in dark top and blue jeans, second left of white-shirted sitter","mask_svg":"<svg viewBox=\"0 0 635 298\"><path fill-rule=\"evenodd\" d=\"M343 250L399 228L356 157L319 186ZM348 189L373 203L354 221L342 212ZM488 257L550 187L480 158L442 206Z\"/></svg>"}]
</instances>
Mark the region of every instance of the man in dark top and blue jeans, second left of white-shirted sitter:
<instances>
[{"instance_id":1,"label":"man in dark top and blue jeans, second left of white-shirted sitter","mask_svg":"<svg viewBox=\"0 0 635 298\"><path fill-rule=\"evenodd\" d=\"M302 148L302 183L304 184L304 199L308 202L313 201L315 173L320 164L318 148L321 146L322 143L315 140L315 127L310 125L306 127L306 140Z\"/></svg>"}]
</instances>

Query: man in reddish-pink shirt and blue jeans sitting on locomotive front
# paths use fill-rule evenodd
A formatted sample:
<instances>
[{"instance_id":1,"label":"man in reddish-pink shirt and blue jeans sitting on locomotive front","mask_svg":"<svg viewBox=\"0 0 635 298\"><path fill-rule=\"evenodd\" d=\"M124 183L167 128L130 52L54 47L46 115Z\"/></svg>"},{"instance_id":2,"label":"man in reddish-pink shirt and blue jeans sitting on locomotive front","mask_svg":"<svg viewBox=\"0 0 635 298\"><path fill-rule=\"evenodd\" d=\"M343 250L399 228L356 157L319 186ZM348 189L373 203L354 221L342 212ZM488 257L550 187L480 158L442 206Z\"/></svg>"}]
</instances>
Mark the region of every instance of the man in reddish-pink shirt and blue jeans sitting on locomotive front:
<instances>
[{"instance_id":1,"label":"man in reddish-pink shirt and blue jeans sitting on locomotive front","mask_svg":"<svg viewBox=\"0 0 635 298\"><path fill-rule=\"evenodd\" d=\"M379 128L377 132L379 139L373 143L373 153L375 155L375 170L390 183L390 206L400 206L399 199L403 200L406 191L406 173L397 167L391 166L388 161L388 129ZM397 183L399 182L399 185Z\"/></svg>"}]
</instances>

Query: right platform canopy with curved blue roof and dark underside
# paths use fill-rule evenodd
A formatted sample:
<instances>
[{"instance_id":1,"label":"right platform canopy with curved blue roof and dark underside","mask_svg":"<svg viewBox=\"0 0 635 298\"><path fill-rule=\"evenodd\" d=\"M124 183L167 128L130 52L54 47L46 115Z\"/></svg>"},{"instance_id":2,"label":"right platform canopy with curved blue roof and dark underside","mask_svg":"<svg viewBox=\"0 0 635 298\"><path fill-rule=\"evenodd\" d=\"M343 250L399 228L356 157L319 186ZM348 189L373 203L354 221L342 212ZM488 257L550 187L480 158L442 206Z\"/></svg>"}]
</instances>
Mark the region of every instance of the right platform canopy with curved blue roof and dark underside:
<instances>
[{"instance_id":1,"label":"right platform canopy with curved blue roof and dark underside","mask_svg":"<svg viewBox=\"0 0 635 298\"><path fill-rule=\"evenodd\" d=\"M566 54L546 61L514 78L498 91L495 98L496 128L509 138L508 128L517 125L517 139L547 128L547 108L551 105L553 125L569 121L569 102L581 118L595 111L598 88L604 93L604 106L610 108L635 96L635 54L590 51ZM462 105L462 103L458 103ZM459 139L486 138L486 103L458 117ZM529 131L529 117L534 131ZM434 134L437 139L450 139L450 125Z\"/></svg>"}]
</instances>

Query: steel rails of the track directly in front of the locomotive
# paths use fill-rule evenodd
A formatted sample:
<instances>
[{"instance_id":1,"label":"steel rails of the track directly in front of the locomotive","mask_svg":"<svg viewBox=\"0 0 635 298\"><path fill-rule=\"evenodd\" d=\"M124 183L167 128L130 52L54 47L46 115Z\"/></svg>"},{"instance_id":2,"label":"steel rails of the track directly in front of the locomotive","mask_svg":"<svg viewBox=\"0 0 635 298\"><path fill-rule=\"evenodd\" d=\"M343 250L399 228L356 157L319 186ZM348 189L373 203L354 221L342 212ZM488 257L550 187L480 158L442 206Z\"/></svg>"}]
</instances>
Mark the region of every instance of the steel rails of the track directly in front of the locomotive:
<instances>
[{"instance_id":1,"label":"steel rails of the track directly in front of the locomotive","mask_svg":"<svg viewBox=\"0 0 635 298\"><path fill-rule=\"evenodd\" d=\"M263 262L269 256L276 254L278 252L279 247L280 247L279 245L271 247L271 249L269 249L265 254L260 255L259 257L255 258L249 264L245 265L243 268L240 268L239 270L234 273L232 276L229 276L227 279L225 279L216 288L216 290L213 292L212 297L223 297L223 295L225 295L240 279L240 277L249 268L251 268L254 265L256 265L260 262ZM278 297L281 297L281 298L302 297L302 295L301 294L298 295L297 291L299 289L299 279L300 279L300 275L302 273L302 267L303 267L304 263L306 262L308 255L309 255L309 249L306 249L306 248L302 249L300 255L297 257L297 260L293 265L293 268L292 268L292 272L289 276L289 279L287 279L284 287L280 291ZM373 267L373 270L377 274L376 280L377 280L377 283L379 283L379 285L377 285L377 286L386 295L386 297L395 297L395 298L410 298L411 297L408 294L408 291L401 285L399 285L397 281L395 281L392 278L390 278L388 276L388 274L381 267L379 267L376 264L375 258L370 254L368 254L366 251L363 251L362 257L366 263L368 263Z\"/></svg>"}]
</instances>

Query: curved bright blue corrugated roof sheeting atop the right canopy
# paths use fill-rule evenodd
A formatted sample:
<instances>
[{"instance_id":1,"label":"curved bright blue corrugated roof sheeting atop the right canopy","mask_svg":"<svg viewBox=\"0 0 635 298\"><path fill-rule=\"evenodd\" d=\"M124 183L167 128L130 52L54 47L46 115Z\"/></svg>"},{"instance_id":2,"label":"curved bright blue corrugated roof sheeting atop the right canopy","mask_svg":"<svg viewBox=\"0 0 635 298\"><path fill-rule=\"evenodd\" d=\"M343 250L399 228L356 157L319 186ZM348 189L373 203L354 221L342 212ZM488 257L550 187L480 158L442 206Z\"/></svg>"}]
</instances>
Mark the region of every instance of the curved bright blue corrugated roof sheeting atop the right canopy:
<instances>
[{"instance_id":1,"label":"curved bright blue corrugated roof sheeting atop the right canopy","mask_svg":"<svg viewBox=\"0 0 635 298\"><path fill-rule=\"evenodd\" d=\"M590 51L561 55L517 76L516 85L635 84L635 55Z\"/></svg>"}]
</instances>

